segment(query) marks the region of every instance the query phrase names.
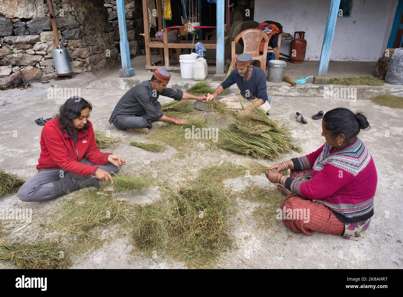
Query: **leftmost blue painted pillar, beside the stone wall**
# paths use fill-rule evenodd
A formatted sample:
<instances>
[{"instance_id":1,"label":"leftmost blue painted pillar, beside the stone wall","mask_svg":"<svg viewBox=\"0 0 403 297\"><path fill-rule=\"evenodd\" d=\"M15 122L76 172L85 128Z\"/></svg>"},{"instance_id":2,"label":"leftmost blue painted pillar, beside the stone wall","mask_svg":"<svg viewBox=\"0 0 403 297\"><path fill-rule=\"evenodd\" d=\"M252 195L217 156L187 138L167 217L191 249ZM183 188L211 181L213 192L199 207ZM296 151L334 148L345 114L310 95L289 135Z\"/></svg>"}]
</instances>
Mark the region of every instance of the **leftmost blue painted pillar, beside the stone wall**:
<instances>
[{"instance_id":1,"label":"leftmost blue painted pillar, beside the stone wall","mask_svg":"<svg viewBox=\"0 0 403 297\"><path fill-rule=\"evenodd\" d=\"M120 35L120 58L122 60L122 69L119 71L119 77L132 77L135 71L131 68L129 42L127 41L125 1L116 0L118 10L119 35Z\"/></svg>"}]
</instances>

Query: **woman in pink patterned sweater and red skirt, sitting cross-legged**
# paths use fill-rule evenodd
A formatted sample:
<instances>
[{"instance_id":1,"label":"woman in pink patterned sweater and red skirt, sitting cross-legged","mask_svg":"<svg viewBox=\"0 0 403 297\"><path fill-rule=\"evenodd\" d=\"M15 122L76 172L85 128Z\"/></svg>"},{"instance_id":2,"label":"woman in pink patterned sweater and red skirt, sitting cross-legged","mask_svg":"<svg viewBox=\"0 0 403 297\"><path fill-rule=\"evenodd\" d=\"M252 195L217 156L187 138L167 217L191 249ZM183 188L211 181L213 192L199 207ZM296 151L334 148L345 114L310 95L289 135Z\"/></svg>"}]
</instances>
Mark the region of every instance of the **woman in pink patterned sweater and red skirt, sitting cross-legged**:
<instances>
[{"instance_id":1,"label":"woman in pink patterned sweater and red skirt, sitting cross-legged","mask_svg":"<svg viewBox=\"0 0 403 297\"><path fill-rule=\"evenodd\" d=\"M279 218L294 233L315 231L358 240L374 214L377 175L374 160L357 137L367 118L335 108L322 120L326 143L315 152L276 164L266 177L287 195ZM280 174L291 169L291 177Z\"/></svg>"}]
</instances>

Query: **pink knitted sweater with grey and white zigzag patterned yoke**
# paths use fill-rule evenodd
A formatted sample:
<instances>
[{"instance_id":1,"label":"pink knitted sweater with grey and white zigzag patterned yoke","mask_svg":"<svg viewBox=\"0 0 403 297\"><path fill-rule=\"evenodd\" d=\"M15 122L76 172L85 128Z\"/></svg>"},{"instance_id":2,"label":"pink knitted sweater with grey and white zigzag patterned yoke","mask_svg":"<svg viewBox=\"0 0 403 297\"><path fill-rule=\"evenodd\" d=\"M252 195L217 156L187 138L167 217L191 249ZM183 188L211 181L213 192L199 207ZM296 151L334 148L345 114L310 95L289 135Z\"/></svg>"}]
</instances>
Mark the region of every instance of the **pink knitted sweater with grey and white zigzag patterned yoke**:
<instances>
[{"instance_id":1,"label":"pink knitted sweater with grey and white zigzag patterned yoke","mask_svg":"<svg viewBox=\"0 0 403 297\"><path fill-rule=\"evenodd\" d=\"M376 168L358 137L339 150L325 143L292 161L294 170L312 169L312 179L287 178L285 187L290 191L323 203L343 222L363 221L374 214Z\"/></svg>"}]
</instances>

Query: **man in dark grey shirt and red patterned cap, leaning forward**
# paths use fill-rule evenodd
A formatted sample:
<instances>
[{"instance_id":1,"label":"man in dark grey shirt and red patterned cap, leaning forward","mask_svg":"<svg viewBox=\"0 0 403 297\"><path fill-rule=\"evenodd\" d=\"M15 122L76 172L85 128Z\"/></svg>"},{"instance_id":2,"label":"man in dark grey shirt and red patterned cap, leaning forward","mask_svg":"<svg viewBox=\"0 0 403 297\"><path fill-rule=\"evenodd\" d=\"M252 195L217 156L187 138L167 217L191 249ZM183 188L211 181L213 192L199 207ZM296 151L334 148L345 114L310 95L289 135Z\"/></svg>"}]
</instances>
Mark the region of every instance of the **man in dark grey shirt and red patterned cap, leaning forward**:
<instances>
[{"instance_id":1,"label":"man in dark grey shirt and red patterned cap, leaning forward","mask_svg":"<svg viewBox=\"0 0 403 297\"><path fill-rule=\"evenodd\" d=\"M166 123L186 124L187 120L171 118L161 112L161 104L158 102L160 95L174 100L193 99L206 102L206 96L193 96L191 94L174 91L167 88L171 75L168 71L158 68L148 81L132 87L120 98L116 104L109 123L118 129L126 129L131 132L148 133L152 127L151 122L161 120Z\"/></svg>"}]
</instances>

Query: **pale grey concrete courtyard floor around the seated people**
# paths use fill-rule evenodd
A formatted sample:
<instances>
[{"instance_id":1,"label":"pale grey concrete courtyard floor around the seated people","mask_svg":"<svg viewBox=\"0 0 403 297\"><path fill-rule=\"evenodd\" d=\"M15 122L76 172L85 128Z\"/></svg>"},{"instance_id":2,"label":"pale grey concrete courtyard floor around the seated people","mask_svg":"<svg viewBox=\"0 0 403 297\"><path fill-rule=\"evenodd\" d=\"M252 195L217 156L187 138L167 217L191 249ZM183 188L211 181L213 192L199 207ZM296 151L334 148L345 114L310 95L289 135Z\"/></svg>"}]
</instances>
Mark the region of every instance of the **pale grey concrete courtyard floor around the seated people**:
<instances>
[{"instance_id":1,"label":"pale grey concrete courtyard floor around the seated people","mask_svg":"<svg viewBox=\"0 0 403 297\"><path fill-rule=\"evenodd\" d=\"M136 79L149 79L151 73L137 71L141 69L141 59L133 65L136 69ZM115 71L115 70L114 70ZM178 183L187 177L195 176L197 171L222 160L237 164L250 162L253 158L240 156L231 152L216 149L206 150L202 143L199 149L183 154L178 158L177 151L169 147L163 153L149 153L128 142L132 139L142 141L143 135L119 131L109 125L108 118L116 102L125 93L125 89L102 89L100 81L114 77L116 72L100 74L98 77L85 73L73 79L52 81L49 84L36 84L27 90L12 89L0 91L0 168L7 172L29 178L35 174L35 166L39 157L39 137L42 127L33 120L39 117L53 116L65 99L48 99L47 88L81 87L81 96L93 104L90 120L96 130L110 131L112 136L120 137L111 150L127 160L125 172L141 172L155 170L157 177L169 179ZM174 74L176 75L176 73ZM305 74L304 74L305 75ZM306 73L309 75L309 73ZM182 79L181 81L186 82ZM179 82L174 77L172 85ZM90 83L97 88L86 88ZM194 83L189 80L189 83ZM109 86L104 84L104 86ZM170 85L168 85L170 86ZM161 98L166 101L168 98ZM403 231L401 193L403 189L403 162L401 157L402 110L380 107L369 100L324 100L323 98L301 96L275 96L270 116L276 120L291 122L295 129L292 135L296 142L303 147L303 154L316 150L324 142L321 134L320 120L310 117L319 110L330 110L343 106L353 111L362 111L367 116L371 129L362 131L359 137L367 145L372 154L377 172L378 188L374 200L375 214L372 224L361 241L349 241L338 236L316 233L313 236L292 233L278 222L271 228L258 228L251 213L255 204L245 200L237 201L237 208L231 216L233 224L231 234L235 245L217 259L216 268L403 268L402 241ZM295 121L295 112L300 112L308 119L308 124L302 125ZM158 129L157 125L152 130ZM218 124L214 124L217 125ZM211 127L214 127L211 126ZM16 134L17 132L17 134ZM13 137L17 136L17 137ZM388 137L386 137L388 136ZM284 160L303 154L289 154ZM200 160L195 162L195 160ZM264 165L274 164L271 160L260 160ZM151 168L151 169L150 169ZM393 168L393 169L392 169ZM392 174L393 173L393 174ZM243 176L225 181L227 187L234 191L245 189L248 185L274 187L262 174L259 176ZM117 195L116 197L119 197ZM37 241L43 238L55 238L60 233L43 230L41 224L51 222L49 214L58 211L60 201L68 199L63 196L52 201L26 203L18 199L16 194L0 197L0 208L31 208L33 222L17 233L10 233L5 239L12 241ZM160 198L156 187L141 193L125 195L131 203L146 201L151 203ZM1 222L13 231L23 226L25 222ZM113 230L106 231L109 241L100 249L91 251L73 259L73 268L183 268L184 263L175 262L162 254L150 258L144 255L130 253L132 243L129 235L114 237ZM0 263L0 268L15 268L12 263Z\"/></svg>"}]
</instances>

